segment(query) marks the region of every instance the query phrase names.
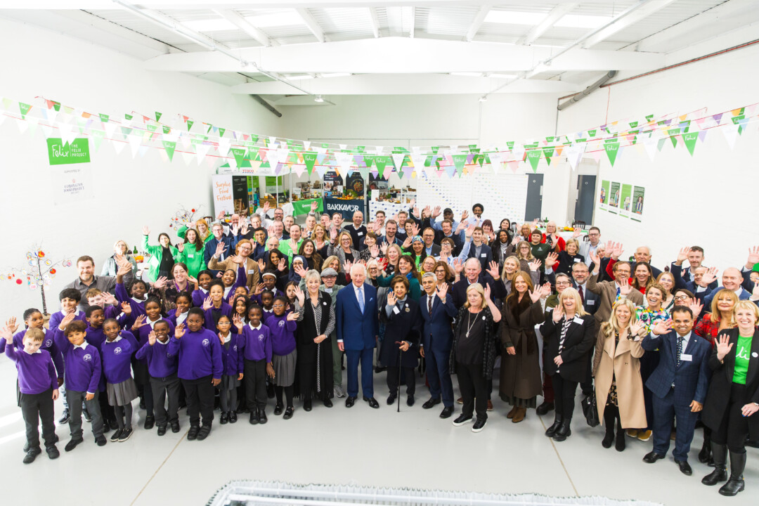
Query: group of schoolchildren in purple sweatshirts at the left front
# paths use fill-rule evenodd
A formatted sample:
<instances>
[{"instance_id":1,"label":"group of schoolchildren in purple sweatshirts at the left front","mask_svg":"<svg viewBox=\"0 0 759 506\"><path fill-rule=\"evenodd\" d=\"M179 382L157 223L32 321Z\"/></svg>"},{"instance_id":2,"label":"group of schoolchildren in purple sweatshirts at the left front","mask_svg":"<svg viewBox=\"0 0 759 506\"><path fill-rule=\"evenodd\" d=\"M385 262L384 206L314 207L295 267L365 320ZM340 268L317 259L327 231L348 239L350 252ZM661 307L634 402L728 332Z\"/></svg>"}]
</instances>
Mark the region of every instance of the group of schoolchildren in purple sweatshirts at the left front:
<instances>
[{"instance_id":1,"label":"group of schoolchildren in purple sweatshirts at the left front","mask_svg":"<svg viewBox=\"0 0 759 506\"><path fill-rule=\"evenodd\" d=\"M217 391L222 425L238 420L238 388L244 391L241 409L250 411L250 423L266 423L267 380L269 389L275 385L274 413L284 411L284 418L291 418L293 379L278 378L275 366L295 353L298 315L292 300L269 290L250 300L233 293L233 309L221 279L203 284L197 293L180 292L176 308L165 317L162 300L149 294L143 281L134 281L127 291L119 276L115 296L87 291L90 305L84 311L77 309L77 289L61 291L62 309L50 317L48 329L36 309L24 312L20 332L16 319L8 319L0 329L0 353L17 366L27 436L24 464L42 453L40 419L48 457L60 455L53 410L59 395L65 407L59 422L68 421L71 430L65 451L83 442L82 415L98 446L106 445L110 431L111 442L127 441L137 398L146 410L144 428L157 426L159 436L168 428L180 431L178 410L186 406L189 440L203 440L211 432Z\"/></svg>"}]
</instances>

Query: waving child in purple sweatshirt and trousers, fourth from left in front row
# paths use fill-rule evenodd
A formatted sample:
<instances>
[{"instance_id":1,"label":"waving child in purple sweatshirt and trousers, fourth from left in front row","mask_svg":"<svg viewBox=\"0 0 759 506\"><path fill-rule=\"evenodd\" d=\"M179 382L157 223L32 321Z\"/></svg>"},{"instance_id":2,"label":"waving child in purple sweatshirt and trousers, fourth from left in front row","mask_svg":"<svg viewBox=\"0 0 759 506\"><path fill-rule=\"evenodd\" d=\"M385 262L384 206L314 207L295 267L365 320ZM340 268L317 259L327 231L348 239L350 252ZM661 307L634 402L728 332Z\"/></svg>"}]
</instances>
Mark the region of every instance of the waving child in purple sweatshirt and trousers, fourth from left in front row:
<instances>
[{"instance_id":1,"label":"waving child in purple sweatshirt and trousers, fourth from left in front row","mask_svg":"<svg viewBox=\"0 0 759 506\"><path fill-rule=\"evenodd\" d=\"M181 322L180 322L180 325ZM160 320L153 325L148 341L137 351L137 358L146 360L150 373L150 388L153 390L153 409L156 413L158 435L166 433L167 424L172 432L179 432L179 378L177 377L177 356L168 351L168 336L172 328L168 321ZM168 398L168 411L165 401Z\"/></svg>"}]
</instances>

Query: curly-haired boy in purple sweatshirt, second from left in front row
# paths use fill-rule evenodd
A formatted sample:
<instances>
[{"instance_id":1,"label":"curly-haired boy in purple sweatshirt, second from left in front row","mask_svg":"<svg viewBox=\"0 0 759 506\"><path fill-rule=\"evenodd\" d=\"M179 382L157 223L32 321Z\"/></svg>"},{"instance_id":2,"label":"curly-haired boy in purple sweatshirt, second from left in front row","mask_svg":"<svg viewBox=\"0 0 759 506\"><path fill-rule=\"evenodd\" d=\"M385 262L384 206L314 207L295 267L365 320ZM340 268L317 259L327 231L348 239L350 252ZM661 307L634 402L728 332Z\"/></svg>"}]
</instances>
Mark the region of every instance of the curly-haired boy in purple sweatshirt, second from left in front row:
<instances>
[{"instance_id":1,"label":"curly-haired boy in purple sweatshirt, second from left in front row","mask_svg":"<svg viewBox=\"0 0 759 506\"><path fill-rule=\"evenodd\" d=\"M65 383L66 397L70 419L71 440L65 447L71 451L83 442L82 432L82 402L92 416L92 429L98 446L106 445L106 436L102 434L102 416L100 406L95 398L102 374L100 352L84 338L87 336L87 324L75 319L74 313L69 313L61 320L55 330L55 344L61 349L66 361Z\"/></svg>"}]
</instances>

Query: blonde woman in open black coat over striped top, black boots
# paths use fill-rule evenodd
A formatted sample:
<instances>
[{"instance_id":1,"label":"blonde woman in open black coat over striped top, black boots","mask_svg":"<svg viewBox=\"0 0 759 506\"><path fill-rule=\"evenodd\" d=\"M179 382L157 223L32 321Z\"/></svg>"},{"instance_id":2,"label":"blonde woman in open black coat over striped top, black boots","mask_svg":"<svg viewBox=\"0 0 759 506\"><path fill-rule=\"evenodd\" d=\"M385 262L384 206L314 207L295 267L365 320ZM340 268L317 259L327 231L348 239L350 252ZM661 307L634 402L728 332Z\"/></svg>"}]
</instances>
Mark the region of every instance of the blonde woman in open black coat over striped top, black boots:
<instances>
[{"instance_id":1,"label":"blonde woman in open black coat over striped top, black boots","mask_svg":"<svg viewBox=\"0 0 759 506\"><path fill-rule=\"evenodd\" d=\"M559 295L559 305L546 311L540 325L543 335L543 371L551 377L556 404L553 425L546 436L565 441L572 435L572 413L575 411L577 385L585 381L587 361L593 347L595 321L585 313L580 294L575 288L565 288Z\"/></svg>"}]
</instances>

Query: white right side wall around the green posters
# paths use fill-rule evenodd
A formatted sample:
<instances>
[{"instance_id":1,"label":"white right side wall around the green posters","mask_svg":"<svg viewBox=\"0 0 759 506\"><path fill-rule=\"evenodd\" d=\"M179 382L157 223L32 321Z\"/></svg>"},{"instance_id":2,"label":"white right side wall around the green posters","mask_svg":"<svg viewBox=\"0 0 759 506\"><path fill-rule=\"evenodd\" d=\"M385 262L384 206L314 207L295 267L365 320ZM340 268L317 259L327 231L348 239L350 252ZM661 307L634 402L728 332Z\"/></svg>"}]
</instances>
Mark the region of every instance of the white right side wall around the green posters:
<instances>
[{"instance_id":1,"label":"white right side wall around the green posters","mask_svg":"<svg viewBox=\"0 0 759 506\"><path fill-rule=\"evenodd\" d=\"M672 57L676 61L676 55ZM559 114L559 133L645 115L685 114L707 108L713 115L759 102L756 69L759 47L752 46L619 83L598 90ZM628 76L622 75L619 78ZM653 162L644 150L626 148L614 167L600 159L600 181L608 179L646 189L641 223L595 210L595 224L604 240L624 240L625 256L636 246L653 247L653 263L663 268L680 247L698 244L707 264L720 269L745 263L745 251L759 242L755 222L757 125L730 149L719 128L698 142L694 156L669 141ZM728 246L729 244L729 246Z\"/></svg>"}]
</instances>

